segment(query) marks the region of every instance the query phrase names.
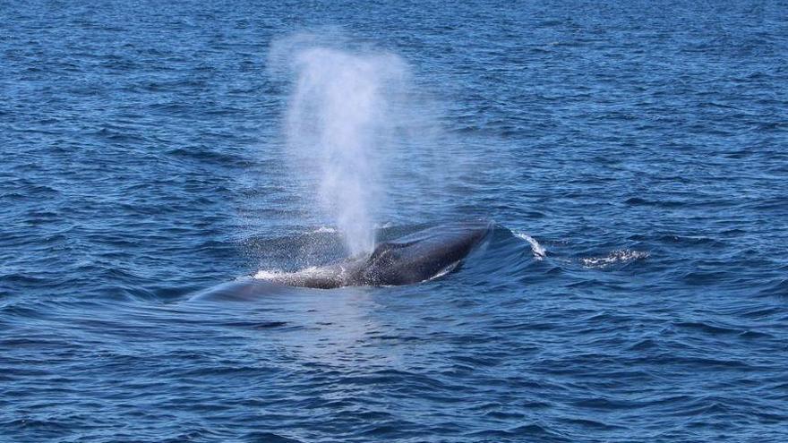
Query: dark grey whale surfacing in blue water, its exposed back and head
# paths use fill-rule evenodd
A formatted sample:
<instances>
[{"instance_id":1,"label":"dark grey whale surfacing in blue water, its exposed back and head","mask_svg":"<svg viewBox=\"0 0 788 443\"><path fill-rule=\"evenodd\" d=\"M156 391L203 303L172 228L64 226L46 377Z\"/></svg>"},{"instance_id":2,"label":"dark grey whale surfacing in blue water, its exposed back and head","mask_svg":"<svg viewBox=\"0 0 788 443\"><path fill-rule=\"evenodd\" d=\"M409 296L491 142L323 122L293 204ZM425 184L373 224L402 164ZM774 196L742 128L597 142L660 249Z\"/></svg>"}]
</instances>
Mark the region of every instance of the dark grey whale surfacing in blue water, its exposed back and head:
<instances>
[{"instance_id":1,"label":"dark grey whale surfacing in blue water, its exposed back and head","mask_svg":"<svg viewBox=\"0 0 788 443\"><path fill-rule=\"evenodd\" d=\"M335 289L344 286L413 285L458 269L463 260L490 236L489 221L438 225L377 243L373 251L325 266L294 272L258 272L218 285L199 298L247 299L255 294L281 293L287 286Z\"/></svg>"}]
</instances>

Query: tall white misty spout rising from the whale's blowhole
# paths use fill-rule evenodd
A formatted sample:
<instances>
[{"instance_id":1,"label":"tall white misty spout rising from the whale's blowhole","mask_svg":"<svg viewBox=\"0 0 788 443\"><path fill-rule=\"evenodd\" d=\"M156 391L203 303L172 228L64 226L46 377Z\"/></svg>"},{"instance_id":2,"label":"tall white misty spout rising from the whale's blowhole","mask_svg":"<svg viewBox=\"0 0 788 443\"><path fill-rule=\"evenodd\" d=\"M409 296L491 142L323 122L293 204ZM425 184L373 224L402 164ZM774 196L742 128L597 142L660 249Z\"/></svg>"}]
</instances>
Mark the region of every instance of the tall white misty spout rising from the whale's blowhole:
<instances>
[{"instance_id":1,"label":"tall white misty spout rising from the whale's blowhole","mask_svg":"<svg viewBox=\"0 0 788 443\"><path fill-rule=\"evenodd\" d=\"M282 52L280 45L280 57ZM338 226L347 250L368 253L385 197L381 159L392 147L393 96L407 65L397 55L304 41L286 45L284 52L295 74L285 122L287 149L308 159L299 173L316 173L320 207Z\"/></svg>"}]
</instances>

